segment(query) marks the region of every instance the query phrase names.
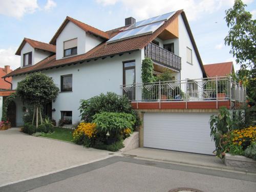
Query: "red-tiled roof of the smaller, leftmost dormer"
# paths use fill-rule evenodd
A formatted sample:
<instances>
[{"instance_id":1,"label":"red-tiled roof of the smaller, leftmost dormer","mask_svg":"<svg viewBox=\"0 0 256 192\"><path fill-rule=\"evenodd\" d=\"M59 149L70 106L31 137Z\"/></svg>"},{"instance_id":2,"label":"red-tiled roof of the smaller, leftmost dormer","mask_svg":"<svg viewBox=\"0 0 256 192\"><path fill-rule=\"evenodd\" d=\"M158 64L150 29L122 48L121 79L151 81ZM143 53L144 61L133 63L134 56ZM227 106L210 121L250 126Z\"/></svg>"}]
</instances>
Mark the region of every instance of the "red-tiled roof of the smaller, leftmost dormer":
<instances>
[{"instance_id":1,"label":"red-tiled roof of the smaller, leftmost dormer","mask_svg":"<svg viewBox=\"0 0 256 192\"><path fill-rule=\"evenodd\" d=\"M49 51L52 53L56 53L56 46L47 44L45 42L40 42L37 40L29 39L29 38L24 38L22 41L22 44L20 44L18 50L16 51L15 55L20 55L20 52L22 51L23 46L25 46L26 42L31 45L34 49L40 49L40 50L45 50Z\"/></svg>"}]
</instances>

